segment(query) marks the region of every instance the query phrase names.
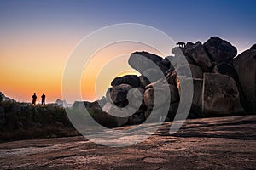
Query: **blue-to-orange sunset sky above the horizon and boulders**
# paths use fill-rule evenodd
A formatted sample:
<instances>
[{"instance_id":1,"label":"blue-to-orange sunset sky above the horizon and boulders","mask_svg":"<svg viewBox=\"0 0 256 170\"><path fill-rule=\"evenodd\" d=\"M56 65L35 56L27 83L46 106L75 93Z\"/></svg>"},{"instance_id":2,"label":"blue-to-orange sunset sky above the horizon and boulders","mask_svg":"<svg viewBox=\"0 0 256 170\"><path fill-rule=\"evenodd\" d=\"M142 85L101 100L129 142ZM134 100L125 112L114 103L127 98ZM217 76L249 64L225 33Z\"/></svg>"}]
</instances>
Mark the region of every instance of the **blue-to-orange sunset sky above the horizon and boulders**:
<instances>
[{"instance_id":1,"label":"blue-to-orange sunset sky above the horizon and boulders","mask_svg":"<svg viewBox=\"0 0 256 170\"><path fill-rule=\"evenodd\" d=\"M253 0L0 0L0 91L22 102L30 102L34 92L46 94L48 103L62 99L61 79L73 49L91 32L113 24L153 26L174 42L206 42L218 36L241 53L256 43L255 6ZM154 52L143 45L126 45L97 54L95 72L81 78L84 100L104 95L114 76L136 74L128 69L103 77L99 88L95 77L104 65L99 61L120 54L115 51ZM117 67L126 59L119 60Z\"/></svg>"}]
</instances>

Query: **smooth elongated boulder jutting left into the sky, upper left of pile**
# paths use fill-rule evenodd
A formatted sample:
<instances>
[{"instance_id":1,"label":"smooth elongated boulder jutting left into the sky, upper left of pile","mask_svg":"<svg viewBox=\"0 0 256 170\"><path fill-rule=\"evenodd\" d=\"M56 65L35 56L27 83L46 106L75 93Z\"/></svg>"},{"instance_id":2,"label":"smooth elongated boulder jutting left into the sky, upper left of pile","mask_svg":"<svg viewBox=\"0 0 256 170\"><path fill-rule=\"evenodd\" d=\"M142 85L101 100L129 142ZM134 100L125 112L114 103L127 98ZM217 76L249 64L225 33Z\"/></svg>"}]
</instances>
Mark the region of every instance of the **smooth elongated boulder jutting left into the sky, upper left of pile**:
<instances>
[{"instance_id":1,"label":"smooth elongated boulder jutting left into the sky, upper left of pile","mask_svg":"<svg viewBox=\"0 0 256 170\"><path fill-rule=\"evenodd\" d=\"M162 58L155 54L148 52L135 52L132 53L128 63L132 68L136 69L140 73L150 68L160 68L161 71L165 72L168 68L161 63Z\"/></svg>"}]
</instances>

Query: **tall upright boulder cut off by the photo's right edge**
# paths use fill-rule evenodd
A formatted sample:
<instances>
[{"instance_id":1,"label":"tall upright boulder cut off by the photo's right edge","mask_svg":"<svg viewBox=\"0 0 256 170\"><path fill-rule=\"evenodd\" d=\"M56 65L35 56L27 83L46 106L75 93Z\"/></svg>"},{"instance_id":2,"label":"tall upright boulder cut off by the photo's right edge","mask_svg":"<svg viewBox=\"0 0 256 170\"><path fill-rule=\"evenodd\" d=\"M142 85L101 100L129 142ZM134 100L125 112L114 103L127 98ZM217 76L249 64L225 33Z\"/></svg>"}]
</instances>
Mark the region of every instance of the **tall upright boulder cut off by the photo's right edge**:
<instances>
[{"instance_id":1,"label":"tall upright boulder cut off by the photo's right edge","mask_svg":"<svg viewBox=\"0 0 256 170\"><path fill-rule=\"evenodd\" d=\"M239 54L233 65L236 70L243 94L243 105L247 111L256 111L256 50L249 49Z\"/></svg>"}]
</instances>

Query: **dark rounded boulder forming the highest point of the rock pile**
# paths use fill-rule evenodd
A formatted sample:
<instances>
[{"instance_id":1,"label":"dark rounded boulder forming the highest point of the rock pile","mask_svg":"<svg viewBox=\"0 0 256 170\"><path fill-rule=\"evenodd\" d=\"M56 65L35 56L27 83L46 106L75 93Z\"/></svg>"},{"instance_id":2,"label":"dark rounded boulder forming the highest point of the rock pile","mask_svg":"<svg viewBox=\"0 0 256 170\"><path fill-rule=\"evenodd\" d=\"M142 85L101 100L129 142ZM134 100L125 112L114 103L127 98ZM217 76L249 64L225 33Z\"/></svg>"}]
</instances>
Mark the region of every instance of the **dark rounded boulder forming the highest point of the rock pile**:
<instances>
[{"instance_id":1,"label":"dark rounded boulder forming the highest point of the rock pile","mask_svg":"<svg viewBox=\"0 0 256 170\"><path fill-rule=\"evenodd\" d=\"M203 44L213 65L233 59L237 54L236 47L219 37L211 37Z\"/></svg>"}]
</instances>

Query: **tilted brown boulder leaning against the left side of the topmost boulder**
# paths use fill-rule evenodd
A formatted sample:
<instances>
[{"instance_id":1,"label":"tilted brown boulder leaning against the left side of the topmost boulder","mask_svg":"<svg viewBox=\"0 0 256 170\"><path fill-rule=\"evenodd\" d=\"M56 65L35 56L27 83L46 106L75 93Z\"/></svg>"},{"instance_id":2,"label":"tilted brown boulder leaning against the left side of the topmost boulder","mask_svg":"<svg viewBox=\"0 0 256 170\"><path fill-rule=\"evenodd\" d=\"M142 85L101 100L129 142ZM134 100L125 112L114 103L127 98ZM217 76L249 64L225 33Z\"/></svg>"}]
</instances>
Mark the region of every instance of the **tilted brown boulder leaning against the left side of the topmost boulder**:
<instances>
[{"instance_id":1,"label":"tilted brown boulder leaning against the left side of the topmost boulder","mask_svg":"<svg viewBox=\"0 0 256 170\"><path fill-rule=\"evenodd\" d=\"M200 65L204 71L209 71L212 67L212 61L208 57L207 52L201 42L188 42L183 49L184 54L195 60L197 65Z\"/></svg>"}]
</instances>

